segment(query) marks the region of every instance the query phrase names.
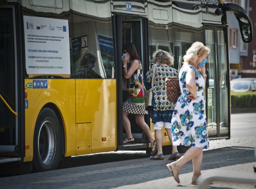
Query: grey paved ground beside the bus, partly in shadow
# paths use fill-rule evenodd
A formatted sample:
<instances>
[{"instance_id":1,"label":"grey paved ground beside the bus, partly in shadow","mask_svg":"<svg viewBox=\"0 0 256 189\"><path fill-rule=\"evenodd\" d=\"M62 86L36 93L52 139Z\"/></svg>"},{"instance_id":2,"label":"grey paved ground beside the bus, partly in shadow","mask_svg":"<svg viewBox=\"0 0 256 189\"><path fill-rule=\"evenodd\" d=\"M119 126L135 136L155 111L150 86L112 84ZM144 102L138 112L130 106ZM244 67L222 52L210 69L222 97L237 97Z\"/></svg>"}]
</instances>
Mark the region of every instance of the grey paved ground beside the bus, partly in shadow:
<instances>
[{"instance_id":1,"label":"grey paved ground beside the bus, partly in shadow","mask_svg":"<svg viewBox=\"0 0 256 189\"><path fill-rule=\"evenodd\" d=\"M252 173L252 166L256 163L254 157L254 148L256 146L256 113L232 114L231 119L231 139L210 141L210 148L204 150L204 158L202 162L203 174L205 171L212 169L237 172L238 176L243 173ZM94 158L93 155L89 156L90 158ZM191 185L193 171L192 162L190 161L182 167L179 176L181 183L178 184L174 181L166 168L166 164L170 163L168 157L169 156L166 155L164 160L150 160L148 157L145 157L72 167L68 169L58 169L42 173L4 177L0 178L0 188L198 188L196 185ZM104 158L104 154L102 158ZM113 158L115 158L115 156ZM222 183L214 181L209 188L253 189L254 185L255 184Z\"/></svg>"}]
</instances>

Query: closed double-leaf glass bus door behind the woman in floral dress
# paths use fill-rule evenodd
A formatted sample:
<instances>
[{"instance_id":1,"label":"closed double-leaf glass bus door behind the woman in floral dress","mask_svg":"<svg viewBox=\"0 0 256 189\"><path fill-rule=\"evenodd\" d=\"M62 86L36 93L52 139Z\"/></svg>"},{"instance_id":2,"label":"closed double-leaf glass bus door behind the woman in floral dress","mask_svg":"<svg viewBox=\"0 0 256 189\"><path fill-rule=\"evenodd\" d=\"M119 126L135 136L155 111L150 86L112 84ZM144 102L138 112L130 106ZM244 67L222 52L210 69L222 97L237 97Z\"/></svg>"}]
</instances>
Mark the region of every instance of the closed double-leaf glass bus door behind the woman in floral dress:
<instances>
[{"instance_id":1,"label":"closed double-leaf glass bus door behind the woman in floral dress","mask_svg":"<svg viewBox=\"0 0 256 189\"><path fill-rule=\"evenodd\" d=\"M230 138L229 64L227 27L205 26L207 60L206 113L211 139Z\"/></svg>"}]
</instances>

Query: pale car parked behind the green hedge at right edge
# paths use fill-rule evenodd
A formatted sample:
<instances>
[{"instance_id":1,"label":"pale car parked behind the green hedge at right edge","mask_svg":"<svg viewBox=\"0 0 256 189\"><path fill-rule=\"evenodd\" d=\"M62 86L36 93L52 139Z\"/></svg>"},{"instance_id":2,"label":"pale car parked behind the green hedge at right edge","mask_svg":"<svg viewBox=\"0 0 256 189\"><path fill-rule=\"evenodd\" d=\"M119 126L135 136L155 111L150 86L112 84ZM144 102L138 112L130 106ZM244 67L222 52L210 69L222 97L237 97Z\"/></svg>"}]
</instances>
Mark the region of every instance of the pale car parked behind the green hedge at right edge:
<instances>
[{"instance_id":1,"label":"pale car parked behind the green hedge at right edge","mask_svg":"<svg viewBox=\"0 0 256 189\"><path fill-rule=\"evenodd\" d=\"M233 79L230 81L230 91L234 91L234 92L256 91L256 82L253 80Z\"/></svg>"}]
</instances>

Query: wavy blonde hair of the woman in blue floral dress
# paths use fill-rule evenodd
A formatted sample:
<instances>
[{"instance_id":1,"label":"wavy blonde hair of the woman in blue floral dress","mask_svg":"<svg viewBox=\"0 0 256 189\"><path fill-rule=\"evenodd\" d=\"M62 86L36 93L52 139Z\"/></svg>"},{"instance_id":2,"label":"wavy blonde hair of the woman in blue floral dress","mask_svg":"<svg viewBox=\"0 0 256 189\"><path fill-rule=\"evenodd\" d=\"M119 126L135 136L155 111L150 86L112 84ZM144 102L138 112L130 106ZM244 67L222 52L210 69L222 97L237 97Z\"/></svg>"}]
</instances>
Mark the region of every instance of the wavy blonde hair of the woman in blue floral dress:
<instances>
[{"instance_id":1,"label":"wavy blonde hair of the woman in blue floral dress","mask_svg":"<svg viewBox=\"0 0 256 189\"><path fill-rule=\"evenodd\" d=\"M210 49L204 46L203 43L196 41L186 51L186 55L183 56L184 62L192 64L198 60L198 55L204 55L209 53Z\"/></svg>"}]
</instances>

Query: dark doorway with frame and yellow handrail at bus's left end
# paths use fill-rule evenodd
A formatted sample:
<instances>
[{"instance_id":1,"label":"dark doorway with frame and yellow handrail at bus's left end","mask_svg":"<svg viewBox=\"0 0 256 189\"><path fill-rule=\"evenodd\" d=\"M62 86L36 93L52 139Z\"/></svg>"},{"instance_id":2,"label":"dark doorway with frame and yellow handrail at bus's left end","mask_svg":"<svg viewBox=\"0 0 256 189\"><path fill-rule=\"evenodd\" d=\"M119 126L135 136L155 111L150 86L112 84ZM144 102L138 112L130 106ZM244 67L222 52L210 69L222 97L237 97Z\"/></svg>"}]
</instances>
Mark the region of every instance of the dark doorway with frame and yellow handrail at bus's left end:
<instances>
[{"instance_id":1,"label":"dark doorway with frame and yellow handrail at bus's left end","mask_svg":"<svg viewBox=\"0 0 256 189\"><path fill-rule=\"evenodd\" d=\"M21 11L20 4L0 4L0 167L20 163L24 157L23 56L18 50L23 40Z\"/></svg>"}]
</instances>

